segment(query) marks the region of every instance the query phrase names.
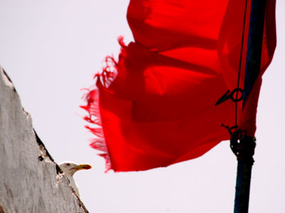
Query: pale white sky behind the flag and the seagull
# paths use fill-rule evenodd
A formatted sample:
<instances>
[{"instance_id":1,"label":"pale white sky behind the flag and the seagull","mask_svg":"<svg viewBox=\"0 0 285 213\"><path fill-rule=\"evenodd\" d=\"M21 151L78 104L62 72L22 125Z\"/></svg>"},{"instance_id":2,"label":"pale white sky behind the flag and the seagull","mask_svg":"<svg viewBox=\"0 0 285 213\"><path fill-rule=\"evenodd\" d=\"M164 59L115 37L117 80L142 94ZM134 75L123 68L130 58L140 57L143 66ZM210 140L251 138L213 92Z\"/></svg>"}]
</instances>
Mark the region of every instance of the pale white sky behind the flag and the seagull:
<instances>
[{"instance_id":1,"label":"pale white sky behind the flag and the seagull","mask_svg":"<svg viewBox=\"0 0 285 213\"><path fill-rule=\"evenodd\" d=\"M237 161L229 141L201 158L138 173L103 173L78 114L80 91L93 84L118 35L132 40L128 1L0 0L0 64L57 163L89 163L78 172L90 213L233 212ZM277 0L277 48L264 74L249 212L285 212L285 1ZM1 116L1 115L0 115Z\"/></svg>"}]
</instances>

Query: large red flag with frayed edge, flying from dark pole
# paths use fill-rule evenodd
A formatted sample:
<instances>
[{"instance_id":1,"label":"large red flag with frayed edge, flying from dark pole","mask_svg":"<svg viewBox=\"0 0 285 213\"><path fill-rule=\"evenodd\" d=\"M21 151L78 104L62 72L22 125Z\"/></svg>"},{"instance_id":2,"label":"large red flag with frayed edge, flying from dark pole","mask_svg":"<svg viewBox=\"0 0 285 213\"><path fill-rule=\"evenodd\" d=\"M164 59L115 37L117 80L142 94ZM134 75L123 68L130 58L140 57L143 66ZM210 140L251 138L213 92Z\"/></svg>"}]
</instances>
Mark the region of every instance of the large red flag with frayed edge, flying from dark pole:
<instances>
[{"instance_id":1,"label":"large red flag with frayed edge, flying from dark pole","mask_svg":"<svg viewBox=\"0 0 285 213\"><path fill-rule=\"evenodd\" d=\"M97 136L90 145L103 151L108 168L147 170L197 158L229 140L222 124L254 136L261 74L276 45L275 0L266 5L262 72L242 110L250 5L130 0L135 42L120 38L118 62L106 58L83 107L96 124L88 127Z\"/></svg>"}]
</instances>

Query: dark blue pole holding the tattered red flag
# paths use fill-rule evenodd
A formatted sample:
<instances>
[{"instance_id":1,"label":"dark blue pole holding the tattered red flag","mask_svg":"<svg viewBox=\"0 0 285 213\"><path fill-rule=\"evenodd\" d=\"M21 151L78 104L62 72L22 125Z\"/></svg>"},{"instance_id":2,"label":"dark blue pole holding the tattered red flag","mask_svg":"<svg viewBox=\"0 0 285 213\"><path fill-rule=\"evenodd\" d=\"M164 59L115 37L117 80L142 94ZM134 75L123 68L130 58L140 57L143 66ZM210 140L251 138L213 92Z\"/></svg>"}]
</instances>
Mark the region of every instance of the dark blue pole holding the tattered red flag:
<instances>
[{"instance_id":1,"label":"dark blue pole holding the tattered red flag","mask_svg":"<svg viewBox=\"0 0 285 213\"><path fill-rule=\"evenodd\" d=\"M247 101L249 92L260 72L265 5L266 0L252 0L243 92L244 103ZM249 191L255 145L253 137L243 136L240 138L239 133L232 134L231 148L237 155L238 162L234 213L247 213L249 209Z\"/></svg>"}]
</instances>

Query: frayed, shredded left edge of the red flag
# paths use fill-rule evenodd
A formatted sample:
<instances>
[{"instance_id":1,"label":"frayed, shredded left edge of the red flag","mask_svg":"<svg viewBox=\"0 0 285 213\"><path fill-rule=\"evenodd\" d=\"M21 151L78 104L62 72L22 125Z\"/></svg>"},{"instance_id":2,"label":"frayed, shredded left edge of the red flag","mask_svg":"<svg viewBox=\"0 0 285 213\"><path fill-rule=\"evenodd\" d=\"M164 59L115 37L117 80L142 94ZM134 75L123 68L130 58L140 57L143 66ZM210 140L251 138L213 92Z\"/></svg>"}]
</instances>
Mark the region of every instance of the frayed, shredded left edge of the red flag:
<instances>
[{"instance_id":1,"label":"frayed, shredded left edge of the red flag","mask_svg":"<svg viewBox=\"0 0 285 213\"><path fill-rule=\"evenodd\" d=\"M122 48L125 48L125 43L123 42L123 36L118 37L118 42ZM105 143L105 137L102 128L102 121L100 118L99 109L99 87L108 88L112 84L113 80L118 74L118 62L115 61L113 56L106 56L103 60L103 68L101 72L97 72L94 75L95 85L93 89L83 89L86 93L83 94L83 99L86 101L86 105L80 106L82 109L88 112L88 115L83 116L83 119L88 121L88 123L95 125L96 127L90 127L86 125L88 129L95 138L90 140L89 146L95 148L103 153L98 153L100 157L105 158L105 173L112 169L110 155L108 153L108 148Z\"/></svg>"}]
</instances>

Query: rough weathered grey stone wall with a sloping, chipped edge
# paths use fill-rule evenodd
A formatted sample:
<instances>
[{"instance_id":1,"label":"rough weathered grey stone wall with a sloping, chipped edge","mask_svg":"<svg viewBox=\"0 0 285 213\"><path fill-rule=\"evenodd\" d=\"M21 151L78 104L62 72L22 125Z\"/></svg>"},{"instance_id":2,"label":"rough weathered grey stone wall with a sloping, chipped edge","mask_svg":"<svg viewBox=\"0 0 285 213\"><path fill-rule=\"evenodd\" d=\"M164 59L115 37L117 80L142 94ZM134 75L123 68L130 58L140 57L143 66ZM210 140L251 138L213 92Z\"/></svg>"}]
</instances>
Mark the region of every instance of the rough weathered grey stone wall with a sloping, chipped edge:
<instances>
[{"instance_id":1,"label":"rough weathered grey stone wall with a sloping, chipped edge","mask_svg":"<svg viewBox=\"0 0 285 213\"><path fill-rule=\"evenodd\" d=\"M36 136L1 67L0 212L88 212Z\"/></svg>"}]
</instances>

